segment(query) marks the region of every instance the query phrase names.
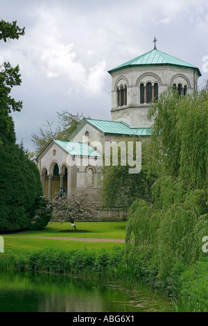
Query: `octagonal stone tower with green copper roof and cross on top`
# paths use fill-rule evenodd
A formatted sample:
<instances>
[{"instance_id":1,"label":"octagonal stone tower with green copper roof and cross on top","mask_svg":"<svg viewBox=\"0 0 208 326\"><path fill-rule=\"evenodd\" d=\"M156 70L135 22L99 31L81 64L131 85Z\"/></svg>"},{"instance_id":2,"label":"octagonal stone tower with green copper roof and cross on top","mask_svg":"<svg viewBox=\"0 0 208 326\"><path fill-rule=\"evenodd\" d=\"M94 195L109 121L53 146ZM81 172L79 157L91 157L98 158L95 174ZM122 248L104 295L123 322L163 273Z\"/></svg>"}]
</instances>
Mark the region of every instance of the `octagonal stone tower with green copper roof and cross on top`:
<instances>
[{"instance_id":1,"label":"octagonal stone tower with green copper roof and cross on top","mask_svg":"<svg viewBox=\"0 0 208 326\"><path fill-rule=\"evenodd\" d=\"M156 40L154 40L155 42ZM168 86L181 96L198 88L198 67L174 58L156 46L152 51L108 71L112 76L112 121L124 121L133 128L148 128L148 107Z\"/></svg>"}]
</instances>

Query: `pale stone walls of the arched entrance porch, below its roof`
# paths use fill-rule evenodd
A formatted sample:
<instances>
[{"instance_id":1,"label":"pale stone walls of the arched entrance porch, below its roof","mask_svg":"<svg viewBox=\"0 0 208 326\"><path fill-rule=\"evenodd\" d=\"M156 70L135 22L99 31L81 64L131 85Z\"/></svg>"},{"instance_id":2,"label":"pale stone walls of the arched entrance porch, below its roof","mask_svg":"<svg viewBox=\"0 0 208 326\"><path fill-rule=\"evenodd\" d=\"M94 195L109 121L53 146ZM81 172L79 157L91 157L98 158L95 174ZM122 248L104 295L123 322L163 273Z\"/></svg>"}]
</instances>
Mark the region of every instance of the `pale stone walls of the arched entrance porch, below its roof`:
<instances>
[{"instance_id":1,"label":"pale stone walls of the arched entrance porch, below its roof","mask_svg":"<svg viewBox=\"0 0 208 326\"><path fill-rule=\"evenodd\" d=\"M60 187L67 189L68 196L71 194L88 193L95 200L100 200L98 194L98 173L94 166L87 165L83 161L89 162L89 157L81 156L80 165L69 165L71 155L60 146L51 141L49 146L38 157L37 166L42 178L44 196L55 198ZM94 157L92 157L93 159ZM55 173L55 165L58 173Z\"/></svg>"}]
</instances>

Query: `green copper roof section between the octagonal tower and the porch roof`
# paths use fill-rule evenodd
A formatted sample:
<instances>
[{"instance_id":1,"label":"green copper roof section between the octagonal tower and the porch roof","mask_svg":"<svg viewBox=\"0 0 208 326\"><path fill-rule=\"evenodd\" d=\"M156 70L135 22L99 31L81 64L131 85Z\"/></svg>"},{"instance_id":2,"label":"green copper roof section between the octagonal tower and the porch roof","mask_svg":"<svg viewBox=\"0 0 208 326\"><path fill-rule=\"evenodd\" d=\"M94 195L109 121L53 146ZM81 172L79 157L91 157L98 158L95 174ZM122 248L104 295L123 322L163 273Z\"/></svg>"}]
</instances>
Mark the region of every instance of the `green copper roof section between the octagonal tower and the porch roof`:
<instances>
[{"instance_id":1,"label":"green copper roof section between the octagonal tower and the porch roof","mask_svg":"<svg viewBox=\"0 0 208 326\"><path fill-rule=\"evenodd\" d=\"M150 128L131 128L123 121L107 121L107 120L94 120L86 119L94 127L101 130L104 134L116 135L137 135L147 136L150 135Z\"/></svg>"}]
</instances>

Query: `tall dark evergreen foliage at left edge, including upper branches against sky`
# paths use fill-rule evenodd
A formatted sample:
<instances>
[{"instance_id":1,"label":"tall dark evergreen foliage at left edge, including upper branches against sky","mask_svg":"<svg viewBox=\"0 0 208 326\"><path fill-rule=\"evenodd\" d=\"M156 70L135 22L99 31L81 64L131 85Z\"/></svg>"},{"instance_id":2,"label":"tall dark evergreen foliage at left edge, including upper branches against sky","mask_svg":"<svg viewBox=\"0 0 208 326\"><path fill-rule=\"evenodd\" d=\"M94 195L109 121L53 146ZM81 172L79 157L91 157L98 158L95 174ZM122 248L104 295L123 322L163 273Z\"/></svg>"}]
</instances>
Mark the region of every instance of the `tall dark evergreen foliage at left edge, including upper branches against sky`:
<instances>
[{"instance_id":1,"label":"tall dark evergreen foliage at left edge, including upper branches against sky","mask_svg":"<svg viewBox=\"0 0 208 326\"><path fill-rule=\"evenodd\" d=\"M0 40L18 39L19 35L24 35L24 28L19 28L16 22L0 21ZM33 227L31 222L42 208L40 173L23 146L15 144L10 116L12 111L22 108L22 102L10 96L12 87L20 84L19 66L12 68L9 62L4 62L0 70L0 233ZM50 218L40 223L45 226Z\"/></svg>"}]
</instances>

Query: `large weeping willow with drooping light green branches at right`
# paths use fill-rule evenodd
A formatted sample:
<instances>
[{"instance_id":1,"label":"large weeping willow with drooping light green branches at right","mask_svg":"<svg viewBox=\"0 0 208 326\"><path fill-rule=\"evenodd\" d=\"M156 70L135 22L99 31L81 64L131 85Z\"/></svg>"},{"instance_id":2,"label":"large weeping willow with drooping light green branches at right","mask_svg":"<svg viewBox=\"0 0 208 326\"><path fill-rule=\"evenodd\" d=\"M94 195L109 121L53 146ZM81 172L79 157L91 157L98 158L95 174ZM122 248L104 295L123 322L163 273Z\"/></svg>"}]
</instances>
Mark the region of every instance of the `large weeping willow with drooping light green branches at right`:
<instances>
[{"instance_id":1,"label":"large weeping willow with drooping light green branches at right","mask_svg":"<svg viewBox=\"0 0 208 326\"><path fill-rule=\"evenodd\" d=\"M138 263L138 275L167 284L174 269L203 255L208 235L208 93L179 96L168 89L149 116L155 123L145 155L149 173L159 178L151 202L137 200L130 207L127 252Z\"/></svg>"}]
</instances>

